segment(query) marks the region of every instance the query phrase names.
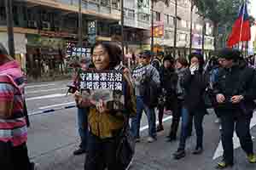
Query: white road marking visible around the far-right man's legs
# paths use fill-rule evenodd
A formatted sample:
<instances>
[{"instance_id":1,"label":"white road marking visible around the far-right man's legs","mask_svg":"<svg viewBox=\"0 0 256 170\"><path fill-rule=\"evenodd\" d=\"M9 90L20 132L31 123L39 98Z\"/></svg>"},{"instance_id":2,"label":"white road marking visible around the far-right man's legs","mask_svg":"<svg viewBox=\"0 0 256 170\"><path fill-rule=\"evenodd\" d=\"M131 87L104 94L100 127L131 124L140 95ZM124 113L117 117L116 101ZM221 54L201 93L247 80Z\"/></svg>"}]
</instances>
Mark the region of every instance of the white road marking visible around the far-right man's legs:
<instances>
[{"instance_id":1,"label":"white road marking visible around the far-right man's legs","mask_svg":"<svg viewBox=\"0 0 256 170\"><path fill-rule=\"evenodd\" d=\"M250 129L252 129L255 125L256 125L256 115L253 114L253 118L251 120L251 124L250 124ZM254 139L254 137L252 137ZM234 144L234 150L236 150L237 148L240 148L241 144L239 141L239 138L236 135L236 132L234 133L234 137L233 137L233 144ZM218 147L214 152L214 156L212 157L213 160L217 159L219 156L223 155L223 147L222 147L222 143L221 140L218 142Z\"/></svg>"}]
</instances>

